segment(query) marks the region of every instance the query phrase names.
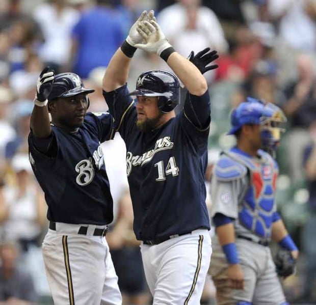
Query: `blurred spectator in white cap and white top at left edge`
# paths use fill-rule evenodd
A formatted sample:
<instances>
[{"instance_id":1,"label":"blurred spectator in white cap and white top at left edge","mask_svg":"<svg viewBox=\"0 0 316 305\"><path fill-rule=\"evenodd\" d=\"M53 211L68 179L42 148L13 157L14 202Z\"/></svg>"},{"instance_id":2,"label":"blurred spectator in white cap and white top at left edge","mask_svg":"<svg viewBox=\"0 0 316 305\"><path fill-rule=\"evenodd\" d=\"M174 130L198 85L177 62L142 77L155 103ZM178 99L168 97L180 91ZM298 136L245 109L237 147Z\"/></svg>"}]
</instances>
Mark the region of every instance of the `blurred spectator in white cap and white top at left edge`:
<instances>
[{"instance_id":1,"label":"blurred spectator in white cap and white top at left edge","mask_svg":"<svg viewBox=\"0 0 316 305\"><path fill-rule=\"evenodd\" d=\"M49 294L40 244L46 229L46 203L32 172L28 153L13 156L10 167L13 183L5 184L0 209L3 235L16 240L20 254L17 263L28 271L37 294Z\"/></svg>"}]
</instances>

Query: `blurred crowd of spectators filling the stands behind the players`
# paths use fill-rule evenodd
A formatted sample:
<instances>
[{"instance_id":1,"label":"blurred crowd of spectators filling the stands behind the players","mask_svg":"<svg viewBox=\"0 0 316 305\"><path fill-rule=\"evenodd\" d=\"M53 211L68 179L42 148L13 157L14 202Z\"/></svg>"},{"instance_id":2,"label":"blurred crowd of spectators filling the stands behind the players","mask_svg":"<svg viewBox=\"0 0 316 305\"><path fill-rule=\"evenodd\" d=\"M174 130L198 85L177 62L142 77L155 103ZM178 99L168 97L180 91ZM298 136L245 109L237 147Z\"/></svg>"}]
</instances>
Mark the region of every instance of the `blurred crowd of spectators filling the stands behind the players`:
<instances>
[{"instance_id":1,"label":"blurred crowd of spectators filling the stands behind the players","mask_svg":"<svg viewBox=\"0 0 316 305\"><path fill-rule=\"evenodd\" d=\"M277 203L301 257L296 275L283 284L289 301L316 303L316 0L2 0L0 304L51 304L41 256L46 203L27 143L39 73L47 65L56 73L77 73L85 87L96 90L89 110L106 111L104 71L130 25L150 9L183 56L207 46L220 54L219 68L205 73L212 98L206 184L219 152L234 145L226 135L233 107L251 96L286 114L277 152ZM169 69L155 54L138 50L129 89L141 72L154 68ZM107 240L124 303L149 304L133 233L124 144L117 134L102 146L115 210ZM214 303L212 279L204 290L203 302Z\"/></svg>"}]
</instances>

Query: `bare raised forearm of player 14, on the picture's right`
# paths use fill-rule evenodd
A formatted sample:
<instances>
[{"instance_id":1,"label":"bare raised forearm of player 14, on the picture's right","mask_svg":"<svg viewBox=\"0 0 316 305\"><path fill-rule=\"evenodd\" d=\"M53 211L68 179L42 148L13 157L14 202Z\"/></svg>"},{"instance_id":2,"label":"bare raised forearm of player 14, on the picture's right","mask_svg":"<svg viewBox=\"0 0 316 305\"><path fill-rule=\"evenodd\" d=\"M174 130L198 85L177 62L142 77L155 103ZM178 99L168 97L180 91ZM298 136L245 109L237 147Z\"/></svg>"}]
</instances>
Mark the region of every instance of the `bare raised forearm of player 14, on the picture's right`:
<instances>
[{"instance_id":1,"label":"bare raised forearm of player 14, on the picture's right","mask_svg":"<svg viewBox=\"0 0 316 305\"><path fill-rule=\"evenodd\" d=\"M203 95L207 90L207 83L200 70L188 59L178 52L173 52L167 64L182 81L188 91L197 96Z\"/></svg>"}]
</instances>

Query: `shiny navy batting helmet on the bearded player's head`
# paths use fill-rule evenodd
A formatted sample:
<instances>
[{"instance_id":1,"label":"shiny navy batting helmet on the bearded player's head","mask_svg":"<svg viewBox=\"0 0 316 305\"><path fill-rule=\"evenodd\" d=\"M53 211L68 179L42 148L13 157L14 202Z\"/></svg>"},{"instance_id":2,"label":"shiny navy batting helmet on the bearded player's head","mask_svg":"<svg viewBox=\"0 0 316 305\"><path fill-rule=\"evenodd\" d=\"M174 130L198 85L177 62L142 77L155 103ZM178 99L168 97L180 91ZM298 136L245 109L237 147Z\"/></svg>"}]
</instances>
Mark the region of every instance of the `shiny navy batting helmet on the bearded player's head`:
<instances>
[{"instance_id":1,"label":"shiny navy batting helmet on the bearded player's head","mask_svg":"<svg viewBox=\"0 0 316 305\"><path fill-rule=\"evenodd\" d=\"M151 70L138 77L136 90L129 95L159 96L158 108L168 113L180 103L180 84L177 77L168 71Z\"/></svg>"}]
</instances>

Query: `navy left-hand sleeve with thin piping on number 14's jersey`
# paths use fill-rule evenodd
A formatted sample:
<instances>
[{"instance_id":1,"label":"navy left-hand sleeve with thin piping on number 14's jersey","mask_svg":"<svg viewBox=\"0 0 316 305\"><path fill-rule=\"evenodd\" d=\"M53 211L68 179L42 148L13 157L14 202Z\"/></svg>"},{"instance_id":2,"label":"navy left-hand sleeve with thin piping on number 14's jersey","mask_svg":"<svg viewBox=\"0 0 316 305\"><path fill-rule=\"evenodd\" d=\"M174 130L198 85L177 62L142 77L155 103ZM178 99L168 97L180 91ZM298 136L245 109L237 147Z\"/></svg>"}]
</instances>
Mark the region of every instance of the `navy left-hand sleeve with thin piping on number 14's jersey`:
<instances>
[{"instance_id":1,"label":"navy left-hand sleeve with thin piping on number 14's jersey","mask_svg":"<svg viewBox=\"0 0 316 305\"><path fill-rule=\"evenodd\" d=\"M123 140L137 119L136 108L133 99L128 96L126 84L117 90L103 91L103 97L109 106L109 112L114 117L115 131L118 131Z\"/></svg>"}]
</instances>

